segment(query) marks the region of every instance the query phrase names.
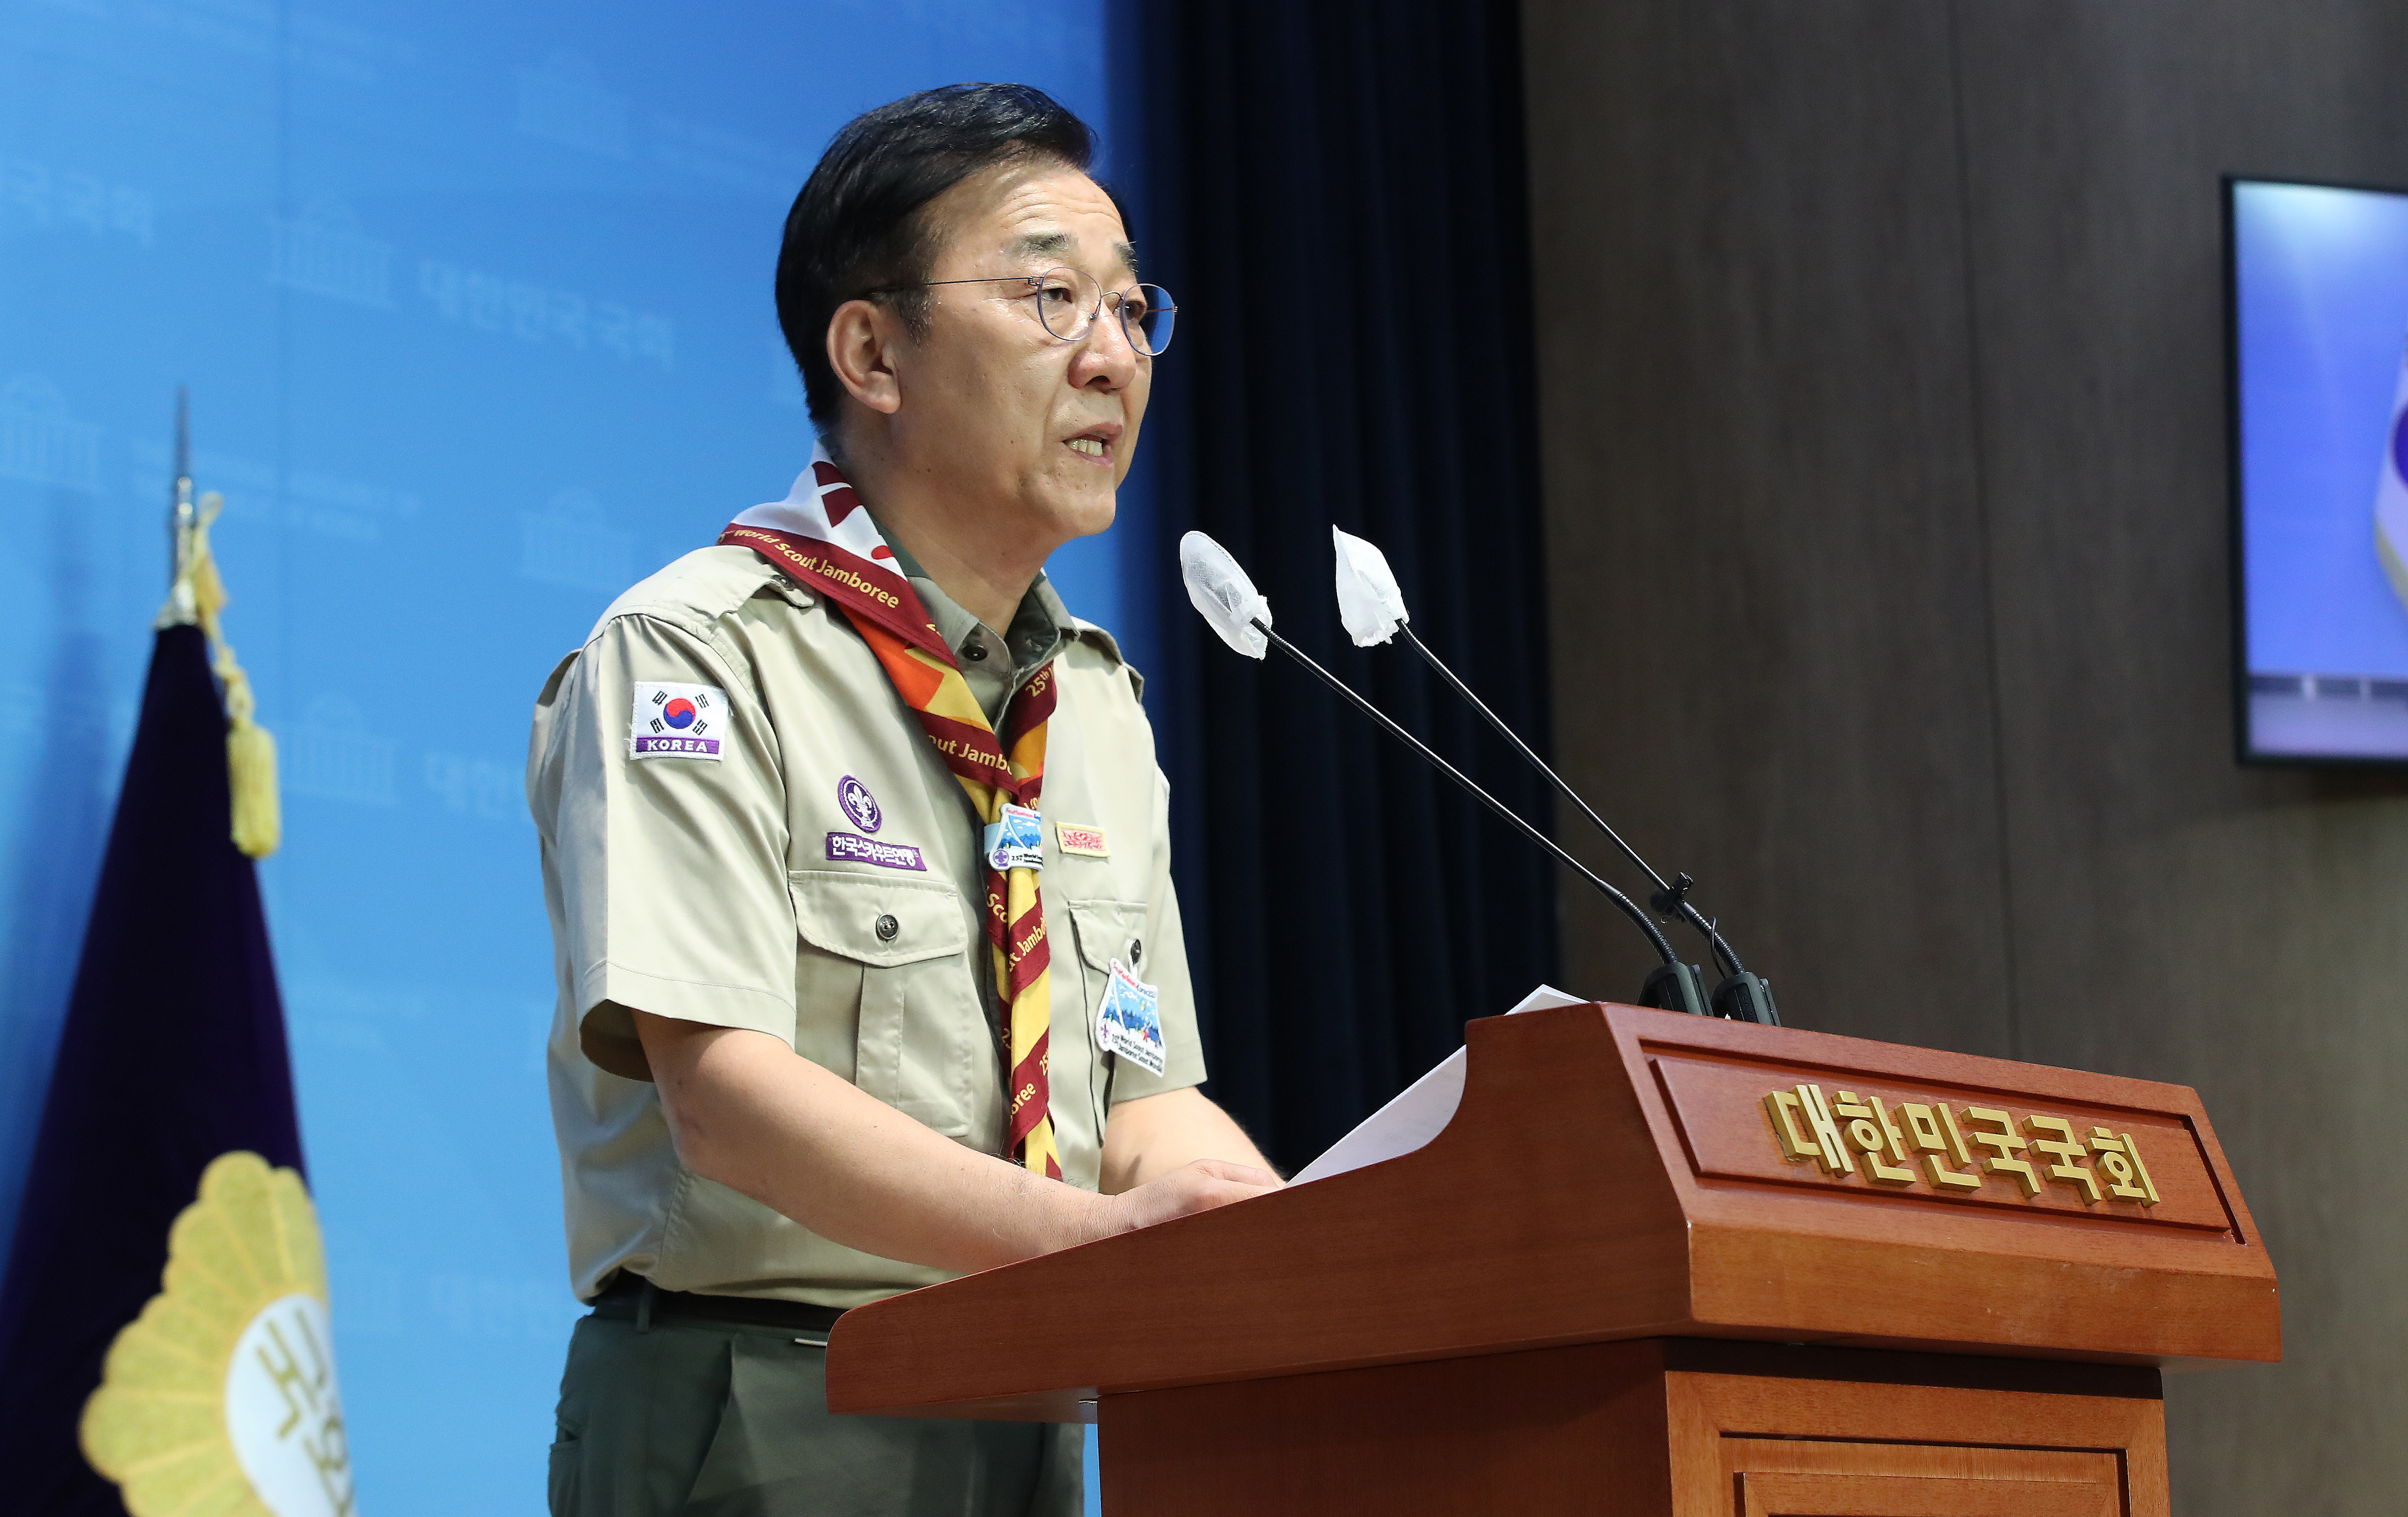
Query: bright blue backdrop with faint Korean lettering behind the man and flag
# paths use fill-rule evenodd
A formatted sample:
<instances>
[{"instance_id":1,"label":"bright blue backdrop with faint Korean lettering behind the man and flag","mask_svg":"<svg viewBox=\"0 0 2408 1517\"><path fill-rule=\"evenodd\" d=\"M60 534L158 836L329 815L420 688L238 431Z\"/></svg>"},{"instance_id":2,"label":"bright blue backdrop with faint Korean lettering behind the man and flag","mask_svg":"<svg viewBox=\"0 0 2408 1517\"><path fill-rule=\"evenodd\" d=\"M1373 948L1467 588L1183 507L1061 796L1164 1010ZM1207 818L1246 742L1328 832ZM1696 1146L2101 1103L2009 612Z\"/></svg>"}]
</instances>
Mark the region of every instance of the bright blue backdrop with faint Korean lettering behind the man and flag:
<instances>
[{"instance_id":1,"label":"bright blue backdrop with faint Korean lettering behind the man and flag","mask_svg":"<svg viewBox=\"0 0 2408 1517\"><path fill-rule=\"evenodd\" d=\"M262 881L371 1517L542 1507L578 1308L535 689L614 592L809 455L771 265L828 132L1023 79L1110 152L1103 12L0 0L0 1226L166 580L188 383L226 628L284 754ZM1151 542L1122 510L1055 573L1144 667L1120 554Z\"/></svg>"}]
</instances>

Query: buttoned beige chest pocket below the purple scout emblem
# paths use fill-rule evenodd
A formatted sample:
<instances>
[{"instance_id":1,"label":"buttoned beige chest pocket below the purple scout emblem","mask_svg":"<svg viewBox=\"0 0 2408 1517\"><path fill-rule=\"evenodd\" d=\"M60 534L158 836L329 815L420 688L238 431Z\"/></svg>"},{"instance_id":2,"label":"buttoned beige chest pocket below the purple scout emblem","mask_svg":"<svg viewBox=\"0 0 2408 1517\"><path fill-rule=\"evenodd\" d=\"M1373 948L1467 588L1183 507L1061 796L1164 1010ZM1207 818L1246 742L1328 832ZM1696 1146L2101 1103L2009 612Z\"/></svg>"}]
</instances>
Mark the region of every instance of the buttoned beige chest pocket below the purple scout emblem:
<instances>
[{"instance_id":1,"label":"buttoned beige chest pocket below the purple scout emblem","mask_svg":"<svg viewBox=\"0 0 2408 1517\"><path fill-rule=\"evenodd\" d=\"M852 1011L852 1084L944 1137L968 1139L987 1019L963 956L961 896L937 881L797 872L787 876L802 951L795 1009L809 1047ZM833 1052L833 1050L831 1050ZM824 1059L838 1067L833 1059Z\"/></svg>"}]
</instances>

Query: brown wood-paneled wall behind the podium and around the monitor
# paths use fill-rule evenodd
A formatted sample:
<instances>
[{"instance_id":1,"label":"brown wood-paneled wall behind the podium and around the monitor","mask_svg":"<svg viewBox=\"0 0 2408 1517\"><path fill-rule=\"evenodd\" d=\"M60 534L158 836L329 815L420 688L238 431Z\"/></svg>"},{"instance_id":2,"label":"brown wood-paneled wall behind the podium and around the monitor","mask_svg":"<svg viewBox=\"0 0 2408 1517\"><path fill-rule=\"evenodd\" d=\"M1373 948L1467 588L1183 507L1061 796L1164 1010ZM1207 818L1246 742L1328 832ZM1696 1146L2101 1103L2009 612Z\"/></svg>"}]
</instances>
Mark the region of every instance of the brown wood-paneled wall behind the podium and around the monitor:
<instances>
[{"instance_id":1,"label":"brown wood-paneled wall behind the podium and around the monitor","mask_svg":"<svg viewBox=\"0 0 2408 1517\"><path fill-rule=\"evenodd\" d=\"M2177 1510L2398 1510L2408 780L2232 761L2218 176L2408 185L2408 5L1524 0L1524 48L1568 775L1794 1026L2196 1086L2288 1353L2170 1380ZM1625 999L1575 889L1565 982Z\"/></svg>"}]
</instances>

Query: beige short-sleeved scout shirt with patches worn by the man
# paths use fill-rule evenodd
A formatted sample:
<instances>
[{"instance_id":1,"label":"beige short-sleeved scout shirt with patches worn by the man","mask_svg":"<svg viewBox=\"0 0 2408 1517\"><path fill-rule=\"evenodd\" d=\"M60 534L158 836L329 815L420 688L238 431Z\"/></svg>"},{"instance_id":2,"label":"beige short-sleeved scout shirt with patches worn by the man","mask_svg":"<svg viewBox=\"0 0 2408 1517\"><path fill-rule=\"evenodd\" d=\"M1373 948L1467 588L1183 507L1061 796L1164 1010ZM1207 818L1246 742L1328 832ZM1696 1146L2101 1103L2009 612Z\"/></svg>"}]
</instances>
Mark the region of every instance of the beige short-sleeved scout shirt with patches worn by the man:
<instances>
[{"instance_id":1,"label":"beige short-sleeved scout shirt with patches worn by the man","mask_svg":"<svg viewBox=\"0 0 2408 1517\"><path fill-rule=\"evenodd\" d=\"M927 604L956 648L990 648L963 660L982 706L1019 684L999 641L1060 638L1040 807L1052 1120L1064 1180L1093 1190L1110 1105L1204 1079L1153 730L1112 638L1060 612L1043 580L1004 638L942 595ZM633 756L638 684L720 691L718 756ZM840 787L874 809L857 795L848 809ZM559 978L551 1120L578 1295L616 1269L833 1308L946 1279L686 1170L621 1011L768 1033L970 1149L1002 1149L978 816L845 616L751 549L686 554L551 672L527 802ZM1062 850L1062 828L1081 852ZM836 833L881 848L838 848ZM1161 1076L1096 1050L1115 958L1161 990Z\"/></svg>"}]
</instances>

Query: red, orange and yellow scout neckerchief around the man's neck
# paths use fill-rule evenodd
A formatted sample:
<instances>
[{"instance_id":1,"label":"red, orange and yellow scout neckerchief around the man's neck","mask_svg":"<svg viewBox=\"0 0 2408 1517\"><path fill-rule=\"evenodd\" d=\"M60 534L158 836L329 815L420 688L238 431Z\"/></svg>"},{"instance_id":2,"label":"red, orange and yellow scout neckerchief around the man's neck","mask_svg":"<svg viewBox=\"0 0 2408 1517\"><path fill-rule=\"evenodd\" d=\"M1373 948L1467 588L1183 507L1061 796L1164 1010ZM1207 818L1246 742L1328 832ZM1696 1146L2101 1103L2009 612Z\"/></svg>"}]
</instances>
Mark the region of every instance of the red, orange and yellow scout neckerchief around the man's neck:
<instances>
[{"instance_id":1,"label":"red, orange and yellow scout neckerchief around the man's neck","mask_svg":"<svg viewBox=\"0 0 2408 1517\"><path fill-rule=\"evenodd\" d=\"M997 737L961 677L954 650L937 636L910 580L896 568L893 549L826 448L811 453L809 474L795 479L785 501L754 506L720 532L720 542L754 549L845 614L879 655L896 693L920 718L937 756L970 795L990 838L997 836L1007 804L1035 809L1045 787L1045 718L1055 708L1052 662L1021 686ZM1047 1084L1045 905L1038 901L1035 869L997 869L992 855L987 946L1011 1043L1007 1149L1014 1163L1060 1180Z\"/></svg>"}]
</instances>

